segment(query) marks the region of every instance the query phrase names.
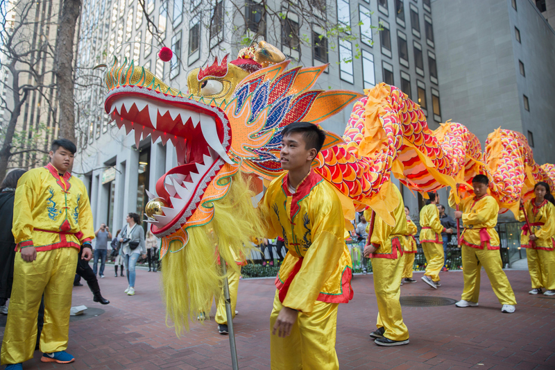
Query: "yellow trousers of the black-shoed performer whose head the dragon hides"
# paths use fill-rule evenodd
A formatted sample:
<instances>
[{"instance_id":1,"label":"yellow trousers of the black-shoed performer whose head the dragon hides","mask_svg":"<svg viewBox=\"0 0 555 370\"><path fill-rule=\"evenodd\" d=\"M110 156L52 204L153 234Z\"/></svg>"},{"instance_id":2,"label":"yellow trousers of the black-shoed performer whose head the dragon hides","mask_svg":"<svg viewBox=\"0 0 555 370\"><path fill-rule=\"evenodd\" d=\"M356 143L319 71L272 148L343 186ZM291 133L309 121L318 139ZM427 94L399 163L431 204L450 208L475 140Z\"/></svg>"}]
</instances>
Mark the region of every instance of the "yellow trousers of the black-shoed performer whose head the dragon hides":
<instances>
[{"instance_id":1,"label":"yellow trousers of the black-shoed performer whose head the dragon hides","mask_svg":"<svg viewBox=\"0 0 555 370\"><path fill-rule=\"evenodd\" d=\"M399 302L403 269L404 258L372 258L378 310L376 326L385 328L384 337L391 340L409 339Z\"/></svg>"}]
</instances>

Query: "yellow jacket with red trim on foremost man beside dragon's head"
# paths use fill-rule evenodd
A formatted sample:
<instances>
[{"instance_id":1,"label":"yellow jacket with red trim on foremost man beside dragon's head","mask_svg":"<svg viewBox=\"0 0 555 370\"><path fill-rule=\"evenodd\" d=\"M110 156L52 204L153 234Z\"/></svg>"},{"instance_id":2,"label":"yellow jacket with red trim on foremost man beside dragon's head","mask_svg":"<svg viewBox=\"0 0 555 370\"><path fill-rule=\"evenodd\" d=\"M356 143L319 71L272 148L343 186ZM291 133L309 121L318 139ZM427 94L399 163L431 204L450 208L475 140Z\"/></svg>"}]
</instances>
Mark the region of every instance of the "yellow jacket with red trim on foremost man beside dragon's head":
<instances>
[{"instance_id":1,"label":"yellow jacket with red trim on foremost man beside dragon's head","mask_svg":"<svg viewBox=\"0 0 555 370\"><path fill-rule=\"evenodd\" d=\"M311 170L291 194L286 173L270 183L259 205L268 220L266 236L283 237L289 249L275 279L282 304L310 314L315 301L348 303L352 265L332 185Z\"/></svg>"}]
</instances>

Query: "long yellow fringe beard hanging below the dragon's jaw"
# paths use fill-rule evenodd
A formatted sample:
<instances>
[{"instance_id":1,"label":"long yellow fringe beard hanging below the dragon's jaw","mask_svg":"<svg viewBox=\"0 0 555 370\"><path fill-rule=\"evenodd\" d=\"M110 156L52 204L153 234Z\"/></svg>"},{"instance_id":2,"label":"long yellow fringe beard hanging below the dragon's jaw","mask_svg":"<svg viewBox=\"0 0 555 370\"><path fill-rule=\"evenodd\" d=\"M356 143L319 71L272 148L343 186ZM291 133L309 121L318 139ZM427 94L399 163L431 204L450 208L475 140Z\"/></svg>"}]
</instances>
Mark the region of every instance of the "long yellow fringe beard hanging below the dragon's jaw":
<instances>
[{"instance_id":1,"label":"long yellow fringe beard hanging below the dragon's jaw","mask_svg":"<svg viewBox=\"0 0 555 370\"><path fill-rule=\"evenodd\" d=\"M200 312L207 317L212 297L217 301L222 294L218 252L227 262L228 273L239 273L234 260L250 258L252 237L265 234L263 220L251 201L255 193L250 190L250 181L241 172L230 180L228 194L213 202L214 218L210 224L188 228L185 248L175 252L180 245L173 242L162 260L166 323L173 321L177 335L183 329L189 331L189 320L196 321Z\"/></svg>"}]
</instances>

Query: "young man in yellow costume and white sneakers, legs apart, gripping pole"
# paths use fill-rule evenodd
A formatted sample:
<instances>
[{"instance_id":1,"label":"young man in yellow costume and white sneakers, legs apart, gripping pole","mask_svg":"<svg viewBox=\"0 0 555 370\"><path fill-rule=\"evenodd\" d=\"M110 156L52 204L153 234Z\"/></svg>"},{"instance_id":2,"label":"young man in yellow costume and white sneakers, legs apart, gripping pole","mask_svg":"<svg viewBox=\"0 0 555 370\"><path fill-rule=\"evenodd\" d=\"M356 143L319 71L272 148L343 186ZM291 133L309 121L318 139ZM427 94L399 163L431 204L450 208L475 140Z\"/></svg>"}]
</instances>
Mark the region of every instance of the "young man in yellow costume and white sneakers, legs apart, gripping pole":
<instances>
[{"instance_id":1,"label":"young man in yellow costume and white sneakers, legs apart, gripping pole","mask_svg":"<svg viewBox=\"0 0 555 370\"><path fill-rule=\"evenodd\" d=\"M480 270L483 266L490 279L493 292L502 304L501 311L515 312L515 294L509 284L509 279L503 271L503 262L499 253L499 235L497 213L499 205L488 194L489 180L485 175L472 178L474 196L467 196L461 202L459 211L455 211L455 218L462 219L465 230L461 235L463 259L464 289L461 301L456 307L475 307L480 295ZM455 208L454 193L451 190L449 205Z\"/></svg>"}]
</instances>

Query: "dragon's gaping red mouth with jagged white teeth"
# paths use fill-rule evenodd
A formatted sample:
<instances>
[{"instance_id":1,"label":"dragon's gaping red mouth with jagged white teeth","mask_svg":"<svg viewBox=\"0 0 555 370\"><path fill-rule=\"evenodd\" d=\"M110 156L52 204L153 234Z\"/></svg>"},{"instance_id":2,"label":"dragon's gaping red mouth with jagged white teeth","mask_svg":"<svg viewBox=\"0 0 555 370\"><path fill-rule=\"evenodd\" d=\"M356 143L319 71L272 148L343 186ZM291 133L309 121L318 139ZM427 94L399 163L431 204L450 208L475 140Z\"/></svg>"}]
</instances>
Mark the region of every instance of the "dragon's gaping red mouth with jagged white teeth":
<instances>
[{"instance_id":1,"label":"dragon's gaping red mouth with jagged white teeth","mask_svg":"<svg viewBox=\"0 0 555 370\"><path fill-rule=\"evenodd\" d=\"M155 215L153 233L159 237L174 233L196 210L207 185L224 162L233 163L227 151L231 145L230 123L217 107L189 98L162 94L144 87L117 87L105 99L105 110L126 132L135 131L137 147L141 137L159 137L176 147L178 167L156 183L158 196L167 203L164 215ZM138 124L137 122L140 122ZM153 198L153 194L148 192Z\"/></svg>"}]
</instances>

